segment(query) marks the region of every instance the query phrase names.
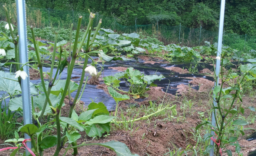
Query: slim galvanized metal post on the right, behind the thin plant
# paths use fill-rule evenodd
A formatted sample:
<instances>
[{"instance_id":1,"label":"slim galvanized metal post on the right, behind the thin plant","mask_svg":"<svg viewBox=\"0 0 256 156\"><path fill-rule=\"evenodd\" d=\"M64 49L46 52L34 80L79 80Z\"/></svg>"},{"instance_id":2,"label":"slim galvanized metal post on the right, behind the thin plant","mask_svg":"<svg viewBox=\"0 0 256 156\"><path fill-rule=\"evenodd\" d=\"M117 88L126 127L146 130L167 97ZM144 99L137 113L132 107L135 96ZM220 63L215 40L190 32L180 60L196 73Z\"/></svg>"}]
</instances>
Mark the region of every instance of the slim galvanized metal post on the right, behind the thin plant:
<instances>
[{"instance_id":1,"label":"slim galvanized metal post on the right, behind the thin plant","mask_svg":"<svg viewBox=\"0 0 256 156\"><path fill-rule=\"evenodd\" d=\"M219 23L219 34L218 34L218 47L217 47L217 56L220 56L221 54L221 49L222 49L222 35L223 35L223 25L224 25L224 11L225 11L225 0L221 0L221 5L220 5L220 23ZM220 74L220 60L216 60L216 75L218 76ZM219 84L219 77L217 78L216 82L214 82L214 86L218 86ZM217 105L216 99L213 99L213 104L214 107ZM212 111L212 126L216 126L216 121L215 121L215 113L216 109ZM214 136L214 131L211 131L211 134ZM210 150L210 156L214 155L214 142L211 140L210 144L213 146L213 148Z\"/></svg>"}]
</instances>

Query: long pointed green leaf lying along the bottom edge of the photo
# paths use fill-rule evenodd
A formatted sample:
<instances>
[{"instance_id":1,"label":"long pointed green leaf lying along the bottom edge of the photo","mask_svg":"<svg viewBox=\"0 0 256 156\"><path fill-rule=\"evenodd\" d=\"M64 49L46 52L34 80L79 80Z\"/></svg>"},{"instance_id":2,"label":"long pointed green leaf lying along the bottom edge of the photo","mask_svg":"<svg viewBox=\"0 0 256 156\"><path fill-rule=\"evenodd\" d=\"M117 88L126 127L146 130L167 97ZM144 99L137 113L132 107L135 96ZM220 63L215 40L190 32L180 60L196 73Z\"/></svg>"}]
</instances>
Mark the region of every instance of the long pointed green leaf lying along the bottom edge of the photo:
<instances>
[{"instance_id":1,"label":"long pointed green leaf lying along the bottom edge of the photo","mask_svg":"<svg viewBox=\"0 0 256 156\"><path fill-rule=\"evenodd\" d=\"M117 156L139 156L138 154L132 154L126 144L117 141L110 141L105 143L97 143L100 146L104 146L116 152Z\"/></svg>"}]
</instances>

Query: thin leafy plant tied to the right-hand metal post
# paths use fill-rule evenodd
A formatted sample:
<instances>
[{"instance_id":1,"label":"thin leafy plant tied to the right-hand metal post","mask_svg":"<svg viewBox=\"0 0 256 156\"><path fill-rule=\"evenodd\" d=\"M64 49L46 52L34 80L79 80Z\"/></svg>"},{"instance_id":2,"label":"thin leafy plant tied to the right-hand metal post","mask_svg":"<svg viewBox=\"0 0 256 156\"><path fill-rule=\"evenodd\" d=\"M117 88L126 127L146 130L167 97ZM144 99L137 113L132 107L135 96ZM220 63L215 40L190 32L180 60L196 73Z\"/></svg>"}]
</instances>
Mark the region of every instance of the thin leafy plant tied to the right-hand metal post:
<instances>
[{"instance_id":1,"label":"thin leafy plant tied to the right-hand metal post","mask_svg":"<svg viewBox=\"0 0 256 156\"><path fill-rule=\"evenodd\" d=\"M216 127L212 127L209 122L205 122L196 126L196 130L204 124L208 124L214 131L216 136L206 133L204 135L204 140L211 139L216 144L215 155L222 155L222 148L226 149L228 156L232 156L231 150L226 148L226 144L236 146L236 153L240 153L240 145L238 143L238 136L230 136L230 134L242 134L244 135L244 128L242 126L247 125L248 122L241 120L238 114L244 114L244 108L242 107L242 94L243 88L246 86L246 82L256 79L256 64L245 64L240 65L240 74L232 73L232 69L227 72L224 71L224 56L225 52L222 54L222 58L217 56L216 59L221 59L220 74L216 75L214 72L214 77L216 82L219 78L221 81L220 86L214 86L213 99L217 103L216 106L212 107L214 112ZM225 73L225 74L224 74ZM235 84L230 84L230 82L236 82ZM224 84L227 87L224 88ZM251 107L248 107L252 110ZM255 110L254 110L255 111ZM206 153L214 146L209 145L206 147Z\"/></svg>"}]
</instances>

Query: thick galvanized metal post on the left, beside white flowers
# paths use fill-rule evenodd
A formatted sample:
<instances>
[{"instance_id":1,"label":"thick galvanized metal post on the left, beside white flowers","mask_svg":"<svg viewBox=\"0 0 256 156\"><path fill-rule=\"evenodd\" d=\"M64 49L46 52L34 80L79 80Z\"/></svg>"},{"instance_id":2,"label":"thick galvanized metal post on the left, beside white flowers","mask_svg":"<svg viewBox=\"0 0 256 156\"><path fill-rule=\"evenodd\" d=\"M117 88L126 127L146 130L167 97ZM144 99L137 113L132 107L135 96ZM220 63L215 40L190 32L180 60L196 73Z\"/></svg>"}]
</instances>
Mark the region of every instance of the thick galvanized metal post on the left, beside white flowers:
<instances>
[{"instance_id":1,"label":"thick galvanized metal post on the left, beside white flowers","mask_svg":"<svg viewBox=\"0 0 256 156\"><path fill-rule=\"evenodd\" d=\"M17 5L17 23L19 38L19 56L20 63L25 64L28 62L28 42L27 42L27 27L26 27L26 6L25 0L16 0ZM20 65L21 66L21 65ZM22 106L23 106L23 120L24 125L32 124L32 106L30 99L30 80L28 66L23 67L24 72L28 74L28 78L21 80L22 88ZM28 134L24 134L25 139L29 139ZM28 148L31 148L31 142L26 142ZM26 155L29 155L26 150Z\"/></svg>"}]
</instances>

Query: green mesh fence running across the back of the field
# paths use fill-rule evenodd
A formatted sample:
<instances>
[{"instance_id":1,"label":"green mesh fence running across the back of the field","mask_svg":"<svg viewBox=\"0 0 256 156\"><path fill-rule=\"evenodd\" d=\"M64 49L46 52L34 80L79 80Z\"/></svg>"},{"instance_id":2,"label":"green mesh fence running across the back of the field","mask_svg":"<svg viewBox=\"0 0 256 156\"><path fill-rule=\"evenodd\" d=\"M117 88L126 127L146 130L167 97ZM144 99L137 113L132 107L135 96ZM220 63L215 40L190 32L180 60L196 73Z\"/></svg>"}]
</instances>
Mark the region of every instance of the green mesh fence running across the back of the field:
<instances>
[{"instance_id":1,"label":"green mesh fence running across the back of the field","mask_svg":"<svg viewBox=\"0 0 256 156\"><path fill-rule=\"evenodd\" d=\"M6 5L8 10L10 6ZM13 4L14 9L15 4ZM88 24L88 12L78 12L75 10L54 10L51 8L32 8L26 7L27 25L31 25L36 28L55 27L55 28L70 28L71 23L74 24L73 28L77 26L77 19L79 16L83 16L82 28L86 28ZM11 13L10 13L11 14ZM133 25L124 26L118 24L116 18L103 16L98 13L95 15L93 26L96 27L99 20L102 19L102 28L112 29L118 33L143 33L146 36L156 35L159 40L165 44L181 43L184 46L200 46L204 45L205 41L214 43L218 41L218 32L212 32L204 30L204 28L187 28L182 25L167 26L158 24L148 25ZM4 8L0 7L0 20L6 21ZM15 25L15 21L12 20ZM134 24L135 24L134 19ZM241 51L247 51L250 49L256 49L256 36L238 35L236 33L225 33L223 36L223 44L236 48Z\"/></svg>"}]
</instances>

